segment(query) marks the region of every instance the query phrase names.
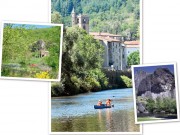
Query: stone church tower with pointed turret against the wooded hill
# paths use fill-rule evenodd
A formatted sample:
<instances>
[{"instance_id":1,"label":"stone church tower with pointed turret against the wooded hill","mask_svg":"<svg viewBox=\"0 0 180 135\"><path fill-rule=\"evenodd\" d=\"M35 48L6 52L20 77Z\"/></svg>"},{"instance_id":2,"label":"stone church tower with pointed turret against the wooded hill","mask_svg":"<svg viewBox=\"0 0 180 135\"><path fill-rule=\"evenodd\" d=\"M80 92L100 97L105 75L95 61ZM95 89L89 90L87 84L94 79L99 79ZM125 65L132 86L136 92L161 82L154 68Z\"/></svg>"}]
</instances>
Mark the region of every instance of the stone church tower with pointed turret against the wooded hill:
<instances>
[{"instance_id":1,"label":"stone church tower with pointed turret against the wooded hill","mask_svg":"<svg viewBox=\"0 0 180 135\"><path fill-rule=\"evenodd\" d=\"M87 15L76 15L74 8L71 12L72 26L79 26L80 28L86 30L89 33L89 17Z\"/></svg>"}]
</instances>

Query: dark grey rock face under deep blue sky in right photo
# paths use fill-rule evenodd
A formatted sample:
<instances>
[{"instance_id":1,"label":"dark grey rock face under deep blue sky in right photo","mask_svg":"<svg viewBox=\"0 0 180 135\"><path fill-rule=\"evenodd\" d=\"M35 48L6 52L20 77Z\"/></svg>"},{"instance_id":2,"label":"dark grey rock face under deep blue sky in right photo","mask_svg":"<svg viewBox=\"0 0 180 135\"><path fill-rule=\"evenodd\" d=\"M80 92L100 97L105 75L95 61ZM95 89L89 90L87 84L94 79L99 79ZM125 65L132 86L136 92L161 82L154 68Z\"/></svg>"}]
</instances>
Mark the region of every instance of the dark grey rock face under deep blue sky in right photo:
<instances>
[{"instance_id":1,"label":"dark grey rock face under deep blue sky in right photo","mask_svg":"<svg viewBox=\"0 0 180 135\"><path fill-rule=\"evenodd\" d=\"M142 71L141 71L142 72ZM167 68L157 68L152 74L135 74L136 95L156 99L157 97L175 98L174 74Z\"/></svg>"}]
</instances>

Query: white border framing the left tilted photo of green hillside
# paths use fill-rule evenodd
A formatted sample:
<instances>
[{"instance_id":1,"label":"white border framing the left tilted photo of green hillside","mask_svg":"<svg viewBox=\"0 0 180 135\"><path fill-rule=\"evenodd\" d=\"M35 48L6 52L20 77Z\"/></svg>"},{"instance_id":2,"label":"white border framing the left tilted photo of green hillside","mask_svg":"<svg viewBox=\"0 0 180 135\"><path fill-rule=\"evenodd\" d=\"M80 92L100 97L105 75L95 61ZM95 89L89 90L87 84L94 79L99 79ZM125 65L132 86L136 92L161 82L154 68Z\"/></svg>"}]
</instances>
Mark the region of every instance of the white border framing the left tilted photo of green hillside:
<instances>
[{"instance_id":1,"label":"white border framing the left tilted photo of green hillside","mask_svg":"<svg viewBox=\"0 0 180 135\"><path fill-rule=\"evenodd\" d=\"M5 77L1 76L2 70L2 49L3 49L3 32L4 32L4 24L11 23L11 24L27 24L27 25L47 25L47 26L59 26L61 27L61 34L60 34L60 52L59 52L59 71L58 71L58 78L57 79L39 79L39 78L24 78L24 77ZM52 23L34 23L34 22L15 22L15 21L2 21L1 23L1 43L0 43L0 79L8 79L8 80L25 80L25 81L60 81L61 80L61 62L62 62L62 43L63 43L63 24L52 24Z\"/></svg>"}]
</instances>

